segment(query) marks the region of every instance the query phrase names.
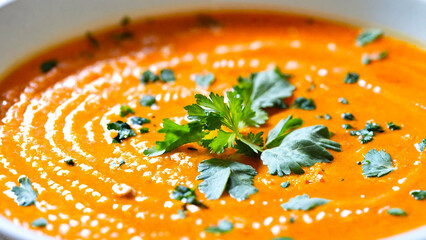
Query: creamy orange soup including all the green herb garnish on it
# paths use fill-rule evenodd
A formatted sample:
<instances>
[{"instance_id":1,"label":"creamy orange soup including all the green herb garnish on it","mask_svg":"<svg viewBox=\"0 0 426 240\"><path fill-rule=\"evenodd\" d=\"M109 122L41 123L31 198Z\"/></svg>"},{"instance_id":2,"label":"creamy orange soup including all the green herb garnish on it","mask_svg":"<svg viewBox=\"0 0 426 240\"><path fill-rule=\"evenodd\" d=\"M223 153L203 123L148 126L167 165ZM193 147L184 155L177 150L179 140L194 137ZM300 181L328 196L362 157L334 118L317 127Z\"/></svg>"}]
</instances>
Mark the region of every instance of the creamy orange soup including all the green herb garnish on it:
<instances>
[{"instance_id":1,"label":"creamy orange soup including all the green herb garnish on it","mask_svg":"<svg viewBox=\"0 0 426 240\"><path fill-rule=\"evenodd\" d=\"M421 227L425 59L301 16L124 18L1 81L0 215L58 239Z\"/></svg>"}]
</instances>

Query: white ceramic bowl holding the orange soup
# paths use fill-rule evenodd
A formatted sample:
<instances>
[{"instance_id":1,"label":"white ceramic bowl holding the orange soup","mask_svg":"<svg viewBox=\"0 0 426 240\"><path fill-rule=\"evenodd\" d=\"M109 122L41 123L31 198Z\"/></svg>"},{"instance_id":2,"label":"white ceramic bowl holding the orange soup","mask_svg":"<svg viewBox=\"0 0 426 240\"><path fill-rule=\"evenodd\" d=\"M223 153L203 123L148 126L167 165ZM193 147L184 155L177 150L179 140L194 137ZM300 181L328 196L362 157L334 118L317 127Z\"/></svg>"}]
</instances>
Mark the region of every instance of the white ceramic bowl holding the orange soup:
<instances>
[{"instance_id":1,"label":"white ceramic bowl holding the orange soup","mask_svg":"<svg viewBox=\"0 0 426 240\"><path fill-rule=\"evenodd\" d=\"M274 10L376 26L426 46L426 0L0 0L0 77L48 47L114 25L123 16L217 9ZM0 217L3 239L46 237ZM390 239L426 240L426 226Z\"/></svg>"}]
</instances>

